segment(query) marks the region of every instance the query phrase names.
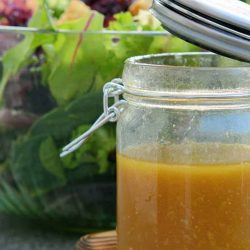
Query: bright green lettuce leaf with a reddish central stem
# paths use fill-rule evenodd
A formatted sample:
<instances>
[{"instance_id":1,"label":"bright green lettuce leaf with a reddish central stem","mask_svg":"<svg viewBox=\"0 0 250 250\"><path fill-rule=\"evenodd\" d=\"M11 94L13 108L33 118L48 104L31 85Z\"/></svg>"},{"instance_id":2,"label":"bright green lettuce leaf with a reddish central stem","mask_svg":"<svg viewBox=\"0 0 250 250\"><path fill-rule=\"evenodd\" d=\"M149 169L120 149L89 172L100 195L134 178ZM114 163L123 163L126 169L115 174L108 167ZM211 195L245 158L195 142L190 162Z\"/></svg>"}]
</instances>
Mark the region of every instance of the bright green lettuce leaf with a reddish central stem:
<instances>
[{"instance_id":1,"label":"bright green lettuce leaf with a reddish central stem","mask_svg":"<svg viewBox=\"0 0 250 250\"><path fill-rule=\"evenodd\" d=\"M91 12L61 27L81 30L85 29L88 21L88 31L102 29L103 16ZM93 35L80 33L66 37L59 34L53 49L55 53L47 54L48 62L51 63L48 83L59 104L68 103L94 88L96 75L106 61L103 43L96 40Z\"/></svg>"}]
</instances>

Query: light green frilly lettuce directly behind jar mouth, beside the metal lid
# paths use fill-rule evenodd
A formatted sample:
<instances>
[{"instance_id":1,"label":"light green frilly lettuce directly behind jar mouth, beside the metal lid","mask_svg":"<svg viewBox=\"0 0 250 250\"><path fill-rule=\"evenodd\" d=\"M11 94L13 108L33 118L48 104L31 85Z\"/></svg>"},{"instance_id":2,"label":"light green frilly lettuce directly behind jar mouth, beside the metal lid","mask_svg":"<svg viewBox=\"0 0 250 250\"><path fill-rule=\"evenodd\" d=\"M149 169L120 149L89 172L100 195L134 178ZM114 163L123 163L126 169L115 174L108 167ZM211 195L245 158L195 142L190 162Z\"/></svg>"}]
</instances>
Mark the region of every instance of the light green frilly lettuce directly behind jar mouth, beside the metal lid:
<instances>
[{"instance_id":1,"label":"light green frilly lettuce directly behind jar mouth, beside the metal lid","mask_svg":"<svg viewBox=\"0 0 250 250\"><path fill-rule=\"evenodd\" d=\"M145 18L151 19L152 16L148 15ZM134 17L129 13L119 13L115 15L116 20L113 21L109 29L121 31L164 31L164 29L158 25L152 25L151 20L149 22L141 23L140 21L134 21ZM150 25L151 24L151 25ZM187 43L177 37L169 36L154 36L154 35L120 35L117 37L117 45L115 46L112 41L107 41L106 47L112 51L114 56L113 60L119 60L121 65L121 59L126 59L134 55L143 55L150 53L160 52L180 52L180 51L199 51L199 48ZM118 64L116 62L116 64ZM107 69L108 71L108 69Z\"/></svg>"}]
</instances>

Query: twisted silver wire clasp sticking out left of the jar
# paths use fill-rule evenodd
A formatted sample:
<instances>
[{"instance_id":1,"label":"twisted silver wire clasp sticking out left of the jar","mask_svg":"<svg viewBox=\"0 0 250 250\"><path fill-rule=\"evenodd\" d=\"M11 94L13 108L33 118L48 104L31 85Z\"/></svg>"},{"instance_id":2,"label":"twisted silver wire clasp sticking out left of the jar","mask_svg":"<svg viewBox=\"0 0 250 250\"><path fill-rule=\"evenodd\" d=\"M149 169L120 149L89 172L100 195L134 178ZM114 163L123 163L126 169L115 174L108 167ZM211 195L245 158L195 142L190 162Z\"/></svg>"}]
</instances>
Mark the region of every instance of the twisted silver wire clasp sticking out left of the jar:
<instances>
[{"instance_id":1,"label":"twisted silver wire clasp sticking out left of the jar","mask_svg":"<svg viewBox=\"0 0 250 250\"><path fill-rule=\"evenodd\" d=\"M75 140L66 145L60 154L60 157L77 150L97 129L102 127L108 122L116 122L123 110L122 104L126 103L125 100L121 100L120 96L124 93L124 87L122 79L113 79L103 87L103 113L96 120L96 122L85 133L77 137ZM114 99L114 104L109 107L109 99Z\"/></svg>"}]
</instances>

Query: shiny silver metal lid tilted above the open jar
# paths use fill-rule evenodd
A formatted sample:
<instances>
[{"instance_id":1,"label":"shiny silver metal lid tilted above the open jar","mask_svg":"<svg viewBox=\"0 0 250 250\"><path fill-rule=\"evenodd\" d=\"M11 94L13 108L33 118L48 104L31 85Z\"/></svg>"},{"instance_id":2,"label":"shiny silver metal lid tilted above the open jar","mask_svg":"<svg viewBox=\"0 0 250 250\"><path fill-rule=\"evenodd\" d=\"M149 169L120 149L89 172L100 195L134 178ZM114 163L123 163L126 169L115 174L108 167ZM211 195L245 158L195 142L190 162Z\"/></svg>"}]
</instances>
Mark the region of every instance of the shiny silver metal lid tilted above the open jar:
<instances>
[{"instance_id":1,"label":"shiny silver metal lid tilted above the open jar","mask_svg":"<svg viewBox=\"0 0 250 250\"><path fill-rule=\"evenodd\" d=\"M152 12L178 37L250 62L250 5L238 0L154 0Z\"/></svg>"}]
</instances>

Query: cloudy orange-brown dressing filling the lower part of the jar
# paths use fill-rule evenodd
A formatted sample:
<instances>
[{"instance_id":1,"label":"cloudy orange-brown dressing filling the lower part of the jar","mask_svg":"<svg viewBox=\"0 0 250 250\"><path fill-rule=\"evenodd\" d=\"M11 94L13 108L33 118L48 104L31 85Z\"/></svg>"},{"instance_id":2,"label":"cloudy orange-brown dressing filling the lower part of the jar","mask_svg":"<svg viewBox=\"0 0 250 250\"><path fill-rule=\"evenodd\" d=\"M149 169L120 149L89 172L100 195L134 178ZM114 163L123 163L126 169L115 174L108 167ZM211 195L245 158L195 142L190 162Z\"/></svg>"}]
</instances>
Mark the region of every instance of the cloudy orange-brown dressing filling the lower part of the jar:
<instances>
[{"instance_id":1,"label":"cloudy orange-brown dressing filling the lower part of the jar","mask_svg":"<svg viewBox=\"0 0 250 250\"><path fill-rule=\"evenodd\" d=\"M119 250L250 250L249 147L145 146L117 161Z\"/></svg>"}]
</instances>

